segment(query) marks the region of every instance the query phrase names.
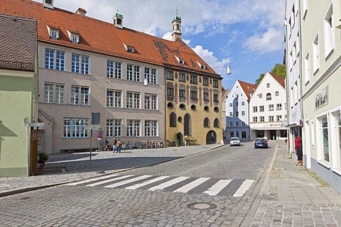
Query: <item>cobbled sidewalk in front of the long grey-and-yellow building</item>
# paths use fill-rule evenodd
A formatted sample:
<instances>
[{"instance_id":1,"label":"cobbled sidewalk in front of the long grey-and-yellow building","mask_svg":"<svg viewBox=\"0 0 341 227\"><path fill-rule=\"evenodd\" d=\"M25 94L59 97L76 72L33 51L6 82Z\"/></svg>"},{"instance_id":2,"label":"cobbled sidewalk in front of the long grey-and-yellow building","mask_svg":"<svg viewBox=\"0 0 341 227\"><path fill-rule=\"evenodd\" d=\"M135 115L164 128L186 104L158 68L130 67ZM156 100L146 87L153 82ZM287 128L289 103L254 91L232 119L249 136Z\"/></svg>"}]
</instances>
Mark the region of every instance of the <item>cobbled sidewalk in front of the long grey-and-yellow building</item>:
<instances>
[{"instance_id":1,"label":"cobbled sidewalk in front of the long grey-and-yellow building","mask_svg":"<svg viewBox=\"0 0 341 227\"><path fill-rule=\"evenodd\" d=\"M113 172L153 165L221 147L220 144L169 147L144 150L122 150L49 155L44 175L32 177L0 177L0 197L33 189L98 177Z\"/></svg>"}]
</instances>

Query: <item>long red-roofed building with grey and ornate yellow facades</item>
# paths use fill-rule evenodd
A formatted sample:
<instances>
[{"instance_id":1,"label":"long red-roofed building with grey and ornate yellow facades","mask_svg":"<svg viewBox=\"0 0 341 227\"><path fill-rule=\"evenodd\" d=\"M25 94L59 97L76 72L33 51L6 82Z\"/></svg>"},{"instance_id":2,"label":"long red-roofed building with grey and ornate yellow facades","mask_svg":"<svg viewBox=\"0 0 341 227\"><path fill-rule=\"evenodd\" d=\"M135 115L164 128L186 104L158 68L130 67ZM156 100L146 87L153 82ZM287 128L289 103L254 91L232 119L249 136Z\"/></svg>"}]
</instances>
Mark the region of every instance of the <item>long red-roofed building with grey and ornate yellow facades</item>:
<instances>
[{"instance_id":1,"label":"long red-roofed building with grey and ornate yellow facades","mask_svg":"<svg viewBox=\"0 0 341 227\"><path fill-rule=\"evenodd\" d=\"M110 142L173 140L175 134L220 142L222 77L181 40L178 13L173 40L125 28L119 13L107 23L87 17L85 9L55 8L53 1L5 0L0 13L38 21L38 118L46 123L48 153L89 150L89 128ZM97 124L92 113L100 114L99 127L90 127ZM174 114L177 123L170 126ZM207 119L215 124L204 126Z\"/></svg>"}]
</instances>

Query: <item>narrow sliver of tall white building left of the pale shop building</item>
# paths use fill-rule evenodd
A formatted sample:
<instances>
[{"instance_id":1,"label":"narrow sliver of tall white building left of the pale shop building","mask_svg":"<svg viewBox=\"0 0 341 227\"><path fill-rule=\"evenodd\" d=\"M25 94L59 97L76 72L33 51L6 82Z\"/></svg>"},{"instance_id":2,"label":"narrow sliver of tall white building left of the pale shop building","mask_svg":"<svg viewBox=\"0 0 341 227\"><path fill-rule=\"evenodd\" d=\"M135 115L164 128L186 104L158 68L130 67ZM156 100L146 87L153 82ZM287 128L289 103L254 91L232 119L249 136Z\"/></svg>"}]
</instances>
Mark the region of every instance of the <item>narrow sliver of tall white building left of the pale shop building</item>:
<instances>
[{"instance_id":1,"label":"narrow sliver of tall white building left of the pale shop building","mask_svg":"<svg viewBox=\"0 0 341 227\"><path fill-rule=\"evenodd\" d=\"M288 147L295 151L295 138L301 135L303 118L301 99L301 20L299 1L286 1L286 92L288 111ZM309 58L309 54L303 56Z\"/></svg>"}]
</instances>

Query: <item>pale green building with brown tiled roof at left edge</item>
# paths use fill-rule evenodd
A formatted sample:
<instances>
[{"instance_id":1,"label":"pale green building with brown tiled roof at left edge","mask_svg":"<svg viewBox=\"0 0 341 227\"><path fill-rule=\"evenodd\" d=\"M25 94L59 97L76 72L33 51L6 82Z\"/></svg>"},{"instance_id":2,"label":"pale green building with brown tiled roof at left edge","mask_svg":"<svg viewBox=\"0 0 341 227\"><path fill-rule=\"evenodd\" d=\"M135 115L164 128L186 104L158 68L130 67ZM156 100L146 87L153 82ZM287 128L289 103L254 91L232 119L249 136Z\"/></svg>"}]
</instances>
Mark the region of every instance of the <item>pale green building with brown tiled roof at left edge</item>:
<instances>
[{"instance_id":1,"label":"pale green building with brown tiled roof at left edge","mask_svg":"<svg viewBox=\"0 0 341 227\"><path fill-rule=\"evenodd\" d=\"M0 14L0 177L36 172L37 22ZM31 130L32 129L32 130Z\"/></svg>"}]
</instances>

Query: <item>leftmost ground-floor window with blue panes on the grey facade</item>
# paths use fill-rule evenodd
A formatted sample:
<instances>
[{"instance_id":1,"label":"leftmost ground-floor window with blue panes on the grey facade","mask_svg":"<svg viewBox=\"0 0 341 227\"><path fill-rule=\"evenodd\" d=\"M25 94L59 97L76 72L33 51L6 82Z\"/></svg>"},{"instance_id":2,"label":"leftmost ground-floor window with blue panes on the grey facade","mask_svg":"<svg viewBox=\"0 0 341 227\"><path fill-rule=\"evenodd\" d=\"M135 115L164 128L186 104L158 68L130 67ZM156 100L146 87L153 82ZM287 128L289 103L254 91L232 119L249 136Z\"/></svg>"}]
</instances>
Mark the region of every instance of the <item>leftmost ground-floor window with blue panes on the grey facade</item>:
<instances>
[{"instance_id":1,"label":"leftmost ground-floor window with blue panes on the grey facade","mask_svg":"<svg viewBox=\"0 0 341 227\"><path fill-rule=\"evenodd\" d=\"M64 138L85 138L87 137L86 126L89 125L89 118L63 118Z\"/></svg>"}]
</instances>

